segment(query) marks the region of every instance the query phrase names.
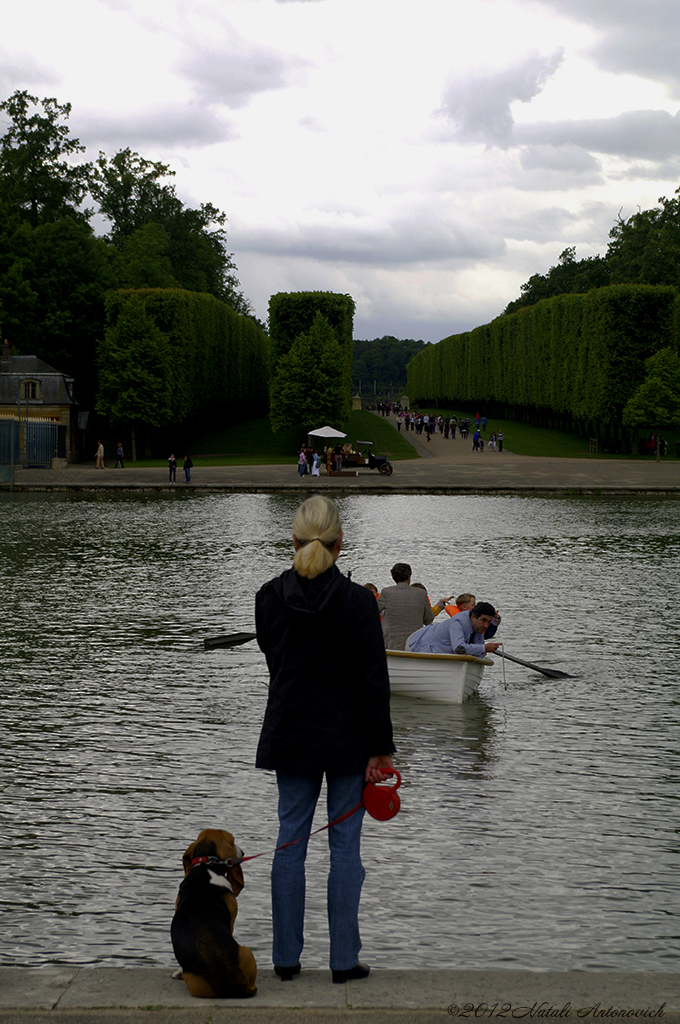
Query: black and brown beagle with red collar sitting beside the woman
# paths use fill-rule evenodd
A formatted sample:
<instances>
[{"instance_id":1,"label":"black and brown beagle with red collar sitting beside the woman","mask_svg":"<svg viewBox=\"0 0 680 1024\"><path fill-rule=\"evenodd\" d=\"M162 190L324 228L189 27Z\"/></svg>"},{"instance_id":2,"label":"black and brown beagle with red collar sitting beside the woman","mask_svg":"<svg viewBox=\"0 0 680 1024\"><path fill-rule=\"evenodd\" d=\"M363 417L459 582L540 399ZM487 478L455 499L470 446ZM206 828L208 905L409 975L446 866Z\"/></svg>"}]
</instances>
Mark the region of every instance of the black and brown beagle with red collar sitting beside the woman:
<instances>
[{"instance_id":1,"label":"black and brown beagle with red collar sitting beside the woman","mask_svg":"<svg viewBox=\"0 0 680 1024\"><path fill-rule=\"evenodd\" d=\"M221 828L205 828L182 857L184 881L170 935L192 995L244 998L257 991L252 950L232 936L244 887L241 857L233 836Z\"/></svg>"}]
</instances>

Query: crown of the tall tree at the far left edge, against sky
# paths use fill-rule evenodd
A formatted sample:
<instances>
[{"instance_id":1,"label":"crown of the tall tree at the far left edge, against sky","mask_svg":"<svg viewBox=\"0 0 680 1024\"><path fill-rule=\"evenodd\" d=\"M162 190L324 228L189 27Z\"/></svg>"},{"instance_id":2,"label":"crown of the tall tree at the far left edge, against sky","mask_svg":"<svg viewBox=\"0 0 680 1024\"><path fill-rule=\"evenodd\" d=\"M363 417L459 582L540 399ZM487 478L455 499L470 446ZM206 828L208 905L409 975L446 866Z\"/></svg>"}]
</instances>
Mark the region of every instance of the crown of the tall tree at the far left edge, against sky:
<instances>
[{"instance_id":1,"label":"crown of the tall tree at the far left edge, against sky","mask_svg":"<svg viewBox=\"0 0 680 1024\"><path fill-rule=\"evenodd\" d=\"M73 163L85 146L70 138L71 103L42 99L42 114L31 113L38 102L17 90L0 103L10 119L0 140L0 195L32 227L65 215L87 219L90 211L81 210L81 204L92 168Z\"/></svg>"}]
</instances>

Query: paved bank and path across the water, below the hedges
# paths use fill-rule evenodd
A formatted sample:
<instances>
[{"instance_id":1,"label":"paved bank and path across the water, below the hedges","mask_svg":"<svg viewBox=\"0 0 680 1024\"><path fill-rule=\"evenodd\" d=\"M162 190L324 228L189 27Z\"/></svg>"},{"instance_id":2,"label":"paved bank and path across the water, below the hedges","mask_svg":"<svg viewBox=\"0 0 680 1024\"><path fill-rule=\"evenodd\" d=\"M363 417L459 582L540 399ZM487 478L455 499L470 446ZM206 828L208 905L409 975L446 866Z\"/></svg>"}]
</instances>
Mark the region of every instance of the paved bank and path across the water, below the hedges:
<instances>
[{"instance_id":1,"label":"paved bank and path across the water, below the hedges","mask_svg":"<svg viewBox=\"0 0 680 1024\"><path fill-rule=\"evenodd\" d=\"M393 422L392 422L393 425ZM81 463L66 469L18 469L15 490L224 490L281 492L323 490L362 494L675 494L680 495L680 459L667 456L661 462L645 459L538 458L514 455L512 450L482 453L472 451L472 440L444 440L435 434L409 431L408 440L421 456L395 462L391 476L359 469L354 476L300 477L297 460L288 466L202 466L196 457L192 483L183 472L177 482L168 482L165 468L95 469ZM511 445L512 447L512 445ZM0 489L9 489L4 484Z\"/></svg>"}]
</instances>

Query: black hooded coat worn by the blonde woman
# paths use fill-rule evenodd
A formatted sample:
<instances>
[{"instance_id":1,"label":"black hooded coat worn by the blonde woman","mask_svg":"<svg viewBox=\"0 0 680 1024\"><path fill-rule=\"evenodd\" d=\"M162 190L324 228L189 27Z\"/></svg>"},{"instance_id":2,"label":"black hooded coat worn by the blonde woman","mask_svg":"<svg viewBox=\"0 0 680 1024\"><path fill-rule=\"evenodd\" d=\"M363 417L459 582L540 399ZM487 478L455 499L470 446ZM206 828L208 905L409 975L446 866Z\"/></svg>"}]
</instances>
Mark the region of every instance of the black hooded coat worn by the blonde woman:
<instances>
[{"instance_id":1,"label":"black hooded coat worn by the blonde woman","mask_svg":"<svg viewBox=\"0 0 680 1024\"><path fill-rule=\"evenodd\" d=\"M363 773L392 754L389 677L375 597L333 565L313 580L288 569L255 599L269 668L258 768Z\"/></svg>"}]
</instances>

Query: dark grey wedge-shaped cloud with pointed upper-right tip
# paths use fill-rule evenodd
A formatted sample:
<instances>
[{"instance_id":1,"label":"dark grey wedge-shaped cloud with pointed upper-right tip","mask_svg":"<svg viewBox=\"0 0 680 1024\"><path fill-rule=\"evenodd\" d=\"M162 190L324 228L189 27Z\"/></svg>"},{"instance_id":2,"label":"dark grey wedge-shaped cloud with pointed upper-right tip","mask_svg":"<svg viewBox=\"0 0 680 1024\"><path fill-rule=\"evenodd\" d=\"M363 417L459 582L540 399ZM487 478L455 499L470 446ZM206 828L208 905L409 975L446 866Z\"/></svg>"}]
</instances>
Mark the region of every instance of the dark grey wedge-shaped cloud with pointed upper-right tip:
<instances>
[{"instance_id":1,"label":"dark grey wedge-shaped cloud with pointed upper-right tip","mask_svg":"<svg viewBox=\"0 0 680 1024\"><path fill-rule=\"evenodd\" d=\"M440 113L454 122L460 138L507 147L512 144L514 127L510 104L529 102L563 58L561 49L550 56L537 53L513 68L452 82Z\"/></svg>"}]
</instances>

